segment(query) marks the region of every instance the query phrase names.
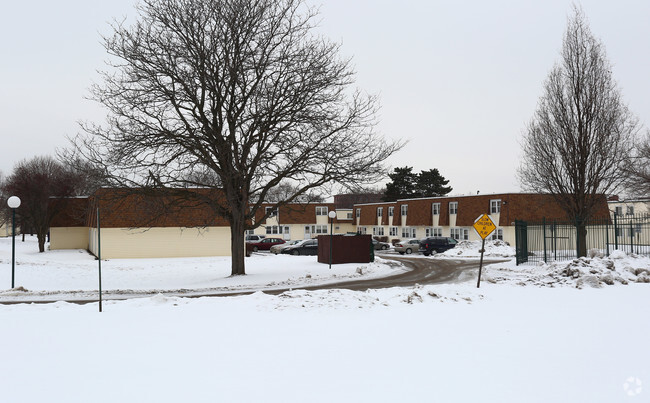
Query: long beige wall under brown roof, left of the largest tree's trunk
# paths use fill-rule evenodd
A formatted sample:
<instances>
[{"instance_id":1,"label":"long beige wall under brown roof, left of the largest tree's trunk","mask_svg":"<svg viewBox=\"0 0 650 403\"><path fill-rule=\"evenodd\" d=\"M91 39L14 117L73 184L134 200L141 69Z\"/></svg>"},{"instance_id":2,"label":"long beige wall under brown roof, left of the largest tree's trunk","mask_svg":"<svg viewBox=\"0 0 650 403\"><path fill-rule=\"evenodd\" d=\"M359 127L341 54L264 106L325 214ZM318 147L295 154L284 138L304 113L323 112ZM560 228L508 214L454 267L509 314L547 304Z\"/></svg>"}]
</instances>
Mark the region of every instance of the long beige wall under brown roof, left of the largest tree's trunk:
<instances>
[{"instance_id":1,"label":"long beige wall under brown roof, left of the largest tree's trunk","mask_svg":"<svg viewBox=\"0 0 650 403\"><path fill-rule=\"evenodd\" d=\"M97 255L97 229L90 229L89 250ZM102 259L230 256L230 228L103 228Z\"/></svg>"}]
</instances>

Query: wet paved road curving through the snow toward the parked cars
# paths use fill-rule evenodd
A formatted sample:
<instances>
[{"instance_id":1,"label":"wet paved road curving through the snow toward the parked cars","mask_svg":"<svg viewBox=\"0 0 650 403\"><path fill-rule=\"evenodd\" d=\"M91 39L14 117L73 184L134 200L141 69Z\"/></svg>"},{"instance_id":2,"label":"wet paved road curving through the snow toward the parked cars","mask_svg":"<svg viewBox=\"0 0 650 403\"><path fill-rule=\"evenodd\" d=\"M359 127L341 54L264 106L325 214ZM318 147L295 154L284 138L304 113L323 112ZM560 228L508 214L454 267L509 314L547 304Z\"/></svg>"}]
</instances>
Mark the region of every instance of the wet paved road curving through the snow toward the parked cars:
<instances>
[{"instance_id":1,"label":"wet paved road curving through the snow toward the parked cars","mask_svg":"<svg viewBox=\"0 0 650 403\"><path fill-rule=\"evenodd\" d=\"M331 283L325 285L314 285L305 287L291 287L283 289L262 290L267 294L281 294L290 289L301 290L328 290L328 289L348 289L355 291L365 291L368 289L390 288L390 287L412 287L415 284L442 284L458 281L460 276L469 270L478 269L478 259L435 259L423 257L403 257L391 256L387 254L380 255L384 259L396 260L402 262L408 270L400 272L396 275L375 279L360 279L348 280L339 283ZM486 260L484 263L495 263L506 261L504 259ZM221 297L221 296L234 296L252 294L256 290L237 290L237 291L224 291L224 290L180 290L164 292L167 296L182 296L182 297ZM138 297L147 297L157 292L151 293L110 293L104 295L104 300L123 300ZM86 304L97 302L96 296L73 296L73 295L52 295L50 298L40 298L33 300L15 300L15 301L0 301L0 304L16 304L16 303L48 303L55 301L66 301L71 303Z\"/></svg>"}]
</instances>

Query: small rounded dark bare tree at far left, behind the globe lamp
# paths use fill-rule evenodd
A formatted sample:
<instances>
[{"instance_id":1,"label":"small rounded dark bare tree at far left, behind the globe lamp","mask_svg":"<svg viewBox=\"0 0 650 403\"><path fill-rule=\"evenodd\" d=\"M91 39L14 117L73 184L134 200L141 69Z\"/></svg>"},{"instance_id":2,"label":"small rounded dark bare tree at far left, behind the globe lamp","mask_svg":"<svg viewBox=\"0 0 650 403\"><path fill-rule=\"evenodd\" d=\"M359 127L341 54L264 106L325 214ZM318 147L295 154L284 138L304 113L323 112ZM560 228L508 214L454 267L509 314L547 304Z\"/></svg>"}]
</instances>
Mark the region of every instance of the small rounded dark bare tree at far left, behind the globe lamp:
<instances>
[{"instance_id":1,"label":"small rounded dark bare tree at far left, behind the globe lamp","mask_svg":"<svg viewBox=\"0 0 650 403\"><path fill-rule=\"evenodd\" d=\"M80 178L51 157L36 157L21 161L2 185L6 196L20 197L16 210L23 230L29 228L36 233L39 252L45 251L45 241L50 221L56 209L50 208L51 197L76 195Z\"/></svg>"}]
</instances>

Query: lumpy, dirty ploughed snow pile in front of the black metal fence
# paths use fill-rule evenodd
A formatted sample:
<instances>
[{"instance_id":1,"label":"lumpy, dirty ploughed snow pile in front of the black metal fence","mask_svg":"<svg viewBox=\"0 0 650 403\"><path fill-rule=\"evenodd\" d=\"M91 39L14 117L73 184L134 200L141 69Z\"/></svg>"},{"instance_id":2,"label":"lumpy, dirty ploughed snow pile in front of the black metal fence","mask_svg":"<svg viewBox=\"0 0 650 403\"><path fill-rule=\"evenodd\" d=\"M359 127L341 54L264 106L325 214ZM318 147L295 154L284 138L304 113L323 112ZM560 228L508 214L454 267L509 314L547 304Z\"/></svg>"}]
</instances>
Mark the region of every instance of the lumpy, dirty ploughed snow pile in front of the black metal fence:
<instances>
[{"instance_id":1,"label":"lumpy, dirty ploughed snow pile in front of the black metal fence","mask_svg":"<svg viewBox=\"0 0 650 403\"><path fill-rule=\"evenodd\" d=\"M590 253L571 261L550 262L537 266L494 264L487 266L482 280L491 283L515 283L542 287L568 286L600 288L606 285L650 283L650 258L626 255L617 250L609 257Z\"/></svg>"}]
</instances>

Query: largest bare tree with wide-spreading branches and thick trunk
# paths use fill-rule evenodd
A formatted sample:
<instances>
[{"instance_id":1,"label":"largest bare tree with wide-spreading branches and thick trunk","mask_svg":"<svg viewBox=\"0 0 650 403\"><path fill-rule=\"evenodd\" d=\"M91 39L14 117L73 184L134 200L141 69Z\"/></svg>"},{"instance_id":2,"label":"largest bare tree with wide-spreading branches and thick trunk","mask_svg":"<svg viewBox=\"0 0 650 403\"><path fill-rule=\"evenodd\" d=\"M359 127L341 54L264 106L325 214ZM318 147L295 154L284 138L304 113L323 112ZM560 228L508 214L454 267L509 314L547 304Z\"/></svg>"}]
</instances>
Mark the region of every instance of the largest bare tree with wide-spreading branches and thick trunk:
<instances>
[{"instance_id":1,"label":"largest bare tree with wide-spreading branches and thick trunk","mask_svg":"<svg viewBox=\"0 0 650 403\"><path fill-rule=\"evenodd\" d=\"M379 180L401 143L374 132L377 102L352 91L339 45L313 34L303 0L143 0L132 26L105 38L112 72L92 89L108 124L75 140L114 180L137 187L218 187L232 274L244 231L274 189L276 206L337 183ZM196 175L211 172L215 175ZM208 180L203 183L200 179ZM215 180L218 178L218 180ZM285 189L282 189L285 190ZM281 192L280 192L281 193Z\"/></svg>"}]
</instances>

